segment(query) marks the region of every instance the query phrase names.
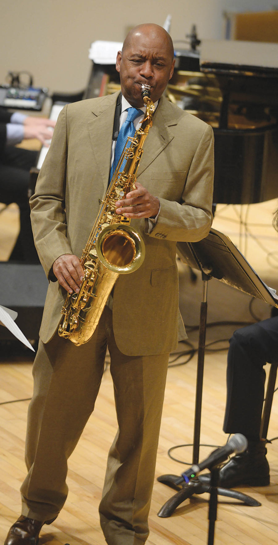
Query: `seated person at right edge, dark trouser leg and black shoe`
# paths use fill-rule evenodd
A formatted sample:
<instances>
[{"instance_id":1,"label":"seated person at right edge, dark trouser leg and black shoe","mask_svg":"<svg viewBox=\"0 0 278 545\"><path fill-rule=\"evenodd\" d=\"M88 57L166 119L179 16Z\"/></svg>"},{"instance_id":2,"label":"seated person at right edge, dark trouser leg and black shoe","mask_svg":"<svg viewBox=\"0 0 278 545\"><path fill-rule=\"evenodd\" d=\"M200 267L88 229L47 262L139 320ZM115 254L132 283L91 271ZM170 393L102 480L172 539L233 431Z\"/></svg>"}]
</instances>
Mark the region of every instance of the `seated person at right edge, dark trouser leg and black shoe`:
<instances>
[{"instance_id":1,"label":"seated person at right edge, dark trouser leg and black shoe","mask_svg":"<svg viewBox=\"0 0 278 545\"><path fill-rule=\"evenodd\" d=\"M278 210L273 226L278 231ZM234 332L227 359L227 402L223 431L242 433L248 446L233 456L219 472L219 486L269 485L265 438L260 438L265 371L268 362L278 361L278 316ZM208 482L209 475L200 480Z\"/></svg>"}]
</instances>

